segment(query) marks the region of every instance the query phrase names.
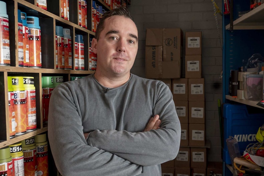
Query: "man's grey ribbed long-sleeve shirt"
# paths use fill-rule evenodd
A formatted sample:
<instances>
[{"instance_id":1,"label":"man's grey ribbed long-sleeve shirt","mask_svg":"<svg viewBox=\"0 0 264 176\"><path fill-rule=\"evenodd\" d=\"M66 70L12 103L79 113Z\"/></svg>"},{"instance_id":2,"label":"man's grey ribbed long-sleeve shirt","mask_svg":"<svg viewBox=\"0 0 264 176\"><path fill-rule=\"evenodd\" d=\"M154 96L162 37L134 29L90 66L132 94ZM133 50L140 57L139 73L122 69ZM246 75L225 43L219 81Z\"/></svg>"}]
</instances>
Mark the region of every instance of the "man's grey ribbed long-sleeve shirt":
<instances>
[{"instance_id":1,"label":"man's grey ribbed long-sleeve shirt","mask_svg":"<svg viewBox=\"0 0 264 176\"><path fill-rule=\"evenodd\" d=\"M155 114L161 128L143 132ZM89 75L51 95L48 138L63 176L160 176L160 163L178 154L180 135L172 93L161 81L130 74L106 88Z\"/></svg>"}]
</instances>

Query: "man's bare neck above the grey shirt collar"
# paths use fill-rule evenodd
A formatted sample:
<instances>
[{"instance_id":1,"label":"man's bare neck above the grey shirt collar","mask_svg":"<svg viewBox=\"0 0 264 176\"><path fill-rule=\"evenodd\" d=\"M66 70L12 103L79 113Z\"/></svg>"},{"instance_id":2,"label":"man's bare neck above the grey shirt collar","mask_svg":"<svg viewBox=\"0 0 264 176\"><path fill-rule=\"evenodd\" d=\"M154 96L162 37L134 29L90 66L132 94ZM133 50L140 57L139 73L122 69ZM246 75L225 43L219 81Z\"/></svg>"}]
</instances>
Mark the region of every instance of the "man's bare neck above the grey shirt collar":
<instances>
[{"instance_id":1,"label":"man's bare neck above the grey shirt collar","mask_svg":"<svg viewBox=\"0 0 264 176\"><path fill-rule=\"evenodd\" d=\"M111 75L102 75L98 72L95 72L94 77L104 87L117 88L125 84L129 80L130 73L124 76L118 76L118 75L111 76Z\"/></svg>"}]
</instances>

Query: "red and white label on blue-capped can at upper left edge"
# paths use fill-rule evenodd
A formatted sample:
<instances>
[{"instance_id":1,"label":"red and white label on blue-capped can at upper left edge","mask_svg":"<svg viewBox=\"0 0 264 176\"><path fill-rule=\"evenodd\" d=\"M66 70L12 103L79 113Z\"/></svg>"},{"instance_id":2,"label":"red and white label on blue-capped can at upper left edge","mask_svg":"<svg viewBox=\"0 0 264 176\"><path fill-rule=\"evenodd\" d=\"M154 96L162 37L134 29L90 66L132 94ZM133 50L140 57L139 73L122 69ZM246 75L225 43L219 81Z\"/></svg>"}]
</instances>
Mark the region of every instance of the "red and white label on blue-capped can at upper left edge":
<instances>
[{"instance_id":1,"label":"red and white label on blue-capped can at upper left edge","mask_svg":"<svg viewBox=\"0 0 264 176\"><path fill-rule=\"evenodd\" d=\"M0 65L10 65L9 20L0 17Z\"/></svg>"}]
</instances>

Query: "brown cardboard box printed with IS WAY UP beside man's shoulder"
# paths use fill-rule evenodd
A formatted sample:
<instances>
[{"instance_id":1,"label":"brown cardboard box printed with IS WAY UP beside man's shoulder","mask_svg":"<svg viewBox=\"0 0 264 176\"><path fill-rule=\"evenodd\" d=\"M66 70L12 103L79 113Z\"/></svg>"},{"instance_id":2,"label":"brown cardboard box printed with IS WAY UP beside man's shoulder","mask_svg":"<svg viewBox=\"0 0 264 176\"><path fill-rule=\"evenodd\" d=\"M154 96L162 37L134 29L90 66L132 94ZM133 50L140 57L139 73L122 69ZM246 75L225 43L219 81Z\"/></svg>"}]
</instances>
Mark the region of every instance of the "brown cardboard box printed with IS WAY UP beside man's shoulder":
<instances>
[{"instance_id":1,"label":"brown cardboard box printed with IS WAY UP beside man's shoulder","mask_svg":"<svg viewBox=\"0 0 264 176\"><path fill-rule=\"evenodd\" d=\"M162 77L162 46L146 46L146 78Z\"/></svg>"}]
</instances>

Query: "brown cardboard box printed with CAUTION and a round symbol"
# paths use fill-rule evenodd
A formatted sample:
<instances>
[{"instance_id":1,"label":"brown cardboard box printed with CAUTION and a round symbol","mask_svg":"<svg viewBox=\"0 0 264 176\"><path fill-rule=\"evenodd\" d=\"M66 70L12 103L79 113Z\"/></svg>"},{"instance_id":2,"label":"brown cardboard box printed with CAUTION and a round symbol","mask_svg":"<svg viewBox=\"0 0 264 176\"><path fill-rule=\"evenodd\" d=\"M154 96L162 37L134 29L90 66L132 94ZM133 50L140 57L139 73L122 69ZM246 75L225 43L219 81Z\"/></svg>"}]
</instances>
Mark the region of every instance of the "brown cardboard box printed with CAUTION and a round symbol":
<instances>
[{"instance_id":1,"label":"brown cardboard box printed with CAUTION and a round symbol","mask_svg":"<svg viewBox=\"0 0 264 176\"><path fill-rule=\"evenodd\" d=\"M163 29L163 61L178 61L183 57L183 31L180 28Z\"/></svg>"}]
</instances>

